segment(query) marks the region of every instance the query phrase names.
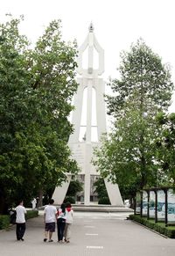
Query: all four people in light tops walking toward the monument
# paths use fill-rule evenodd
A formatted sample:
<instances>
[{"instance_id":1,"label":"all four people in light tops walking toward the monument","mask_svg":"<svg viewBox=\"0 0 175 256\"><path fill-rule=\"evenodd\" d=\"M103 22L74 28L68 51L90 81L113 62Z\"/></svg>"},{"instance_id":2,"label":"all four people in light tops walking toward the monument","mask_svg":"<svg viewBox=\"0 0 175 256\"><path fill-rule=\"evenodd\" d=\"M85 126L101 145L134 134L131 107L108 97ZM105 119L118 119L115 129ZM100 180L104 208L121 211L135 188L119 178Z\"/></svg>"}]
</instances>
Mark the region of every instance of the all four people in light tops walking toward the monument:
<instances>
[{"instance_id":1,"label":"all four people in light tops walking toward the monument","mask_svg":"<svg viewBox=\"0 0 175 256\"><path fill-rule=\"evenodd\" d=\"M50 199L49 204L44 210L44 223L45 223L45 238L44 242L52 242L52 233L55 231L57 223L57 233L59 243L69 243L71 235L71 224L73 223L73 208L70 203L62 203L60 208L57 209L54 205L54 200ZM17 240L24 241L25 235L25 214L26 209L24 202L19 201L16 208L16 235Z\"/></svg>"}]
</instances>

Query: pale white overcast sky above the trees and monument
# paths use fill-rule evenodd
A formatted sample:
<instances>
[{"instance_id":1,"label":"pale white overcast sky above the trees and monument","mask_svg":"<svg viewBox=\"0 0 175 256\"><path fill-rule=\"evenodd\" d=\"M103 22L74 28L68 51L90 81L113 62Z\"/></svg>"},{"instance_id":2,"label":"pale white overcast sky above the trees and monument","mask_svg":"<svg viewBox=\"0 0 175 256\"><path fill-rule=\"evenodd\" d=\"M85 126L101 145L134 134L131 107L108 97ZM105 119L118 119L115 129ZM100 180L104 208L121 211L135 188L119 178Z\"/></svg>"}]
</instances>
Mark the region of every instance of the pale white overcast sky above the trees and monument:
<instances>
[{"instance_id":1,"label":"pale white overcast sky above the trees and monument","mask_svg":"<svg viewBox=\"0 0 175 256\"><path fill-rule=\"evenodd\" d=\"M95 36L105 51L105 80L117 77L120 53L142 37L163 63L172 66L175 83L174 0L2 0L0 21L5 13L24 14L21 31L31 42L42 35L52 19L61 19L65 40L85 40L93 22ZM175 100L171 110L175 111Z\"/></svg>"}]
</instances>

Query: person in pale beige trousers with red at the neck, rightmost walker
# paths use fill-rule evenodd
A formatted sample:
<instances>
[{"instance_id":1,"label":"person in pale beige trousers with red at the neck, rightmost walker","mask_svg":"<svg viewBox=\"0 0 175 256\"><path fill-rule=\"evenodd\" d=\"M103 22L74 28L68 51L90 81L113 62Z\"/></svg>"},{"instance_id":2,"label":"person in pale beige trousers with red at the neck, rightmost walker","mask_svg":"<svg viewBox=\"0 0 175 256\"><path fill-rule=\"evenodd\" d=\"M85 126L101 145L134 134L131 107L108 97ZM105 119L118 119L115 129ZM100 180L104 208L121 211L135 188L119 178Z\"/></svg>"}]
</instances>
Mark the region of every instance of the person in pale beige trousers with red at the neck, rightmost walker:
<instances>
[{"instance_id":1,"label":"person in pale beige trousers with red at the neck, rightmost walker","mask_svg":"<svg viewBox=\"0 0 175 256\"><path fill-rule=\"evenodd\" d=\"M65 226L65 242L70 242L71 225L73 223L73 208L69 202L66 203L66 226Z\"/></svg>"}]
</instances>

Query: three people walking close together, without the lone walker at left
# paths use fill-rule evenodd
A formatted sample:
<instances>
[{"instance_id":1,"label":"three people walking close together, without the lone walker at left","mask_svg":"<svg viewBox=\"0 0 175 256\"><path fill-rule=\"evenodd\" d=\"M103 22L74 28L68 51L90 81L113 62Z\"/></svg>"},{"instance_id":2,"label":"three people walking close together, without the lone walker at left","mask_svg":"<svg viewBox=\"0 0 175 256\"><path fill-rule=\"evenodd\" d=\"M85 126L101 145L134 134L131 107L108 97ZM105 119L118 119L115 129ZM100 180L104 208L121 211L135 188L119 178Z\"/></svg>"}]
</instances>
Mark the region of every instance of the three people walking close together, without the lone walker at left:
<instances>
[{"instance_id":1,"label":"three people walking close together, without the lone walker at left","mask_svg":"<svg viewBox=\"0 0 175 256\"><path fill-rule=\"evenodd\" d=\"M59 243L69 243L71 235L71 224L73 223L73 208L70 203L62 203L57 210L53 206L54 200L51 199L44 210L45 238L44 242L52 242L52 233L55 231L57 223L57 233Z\"/></svg>"}]
</instances>

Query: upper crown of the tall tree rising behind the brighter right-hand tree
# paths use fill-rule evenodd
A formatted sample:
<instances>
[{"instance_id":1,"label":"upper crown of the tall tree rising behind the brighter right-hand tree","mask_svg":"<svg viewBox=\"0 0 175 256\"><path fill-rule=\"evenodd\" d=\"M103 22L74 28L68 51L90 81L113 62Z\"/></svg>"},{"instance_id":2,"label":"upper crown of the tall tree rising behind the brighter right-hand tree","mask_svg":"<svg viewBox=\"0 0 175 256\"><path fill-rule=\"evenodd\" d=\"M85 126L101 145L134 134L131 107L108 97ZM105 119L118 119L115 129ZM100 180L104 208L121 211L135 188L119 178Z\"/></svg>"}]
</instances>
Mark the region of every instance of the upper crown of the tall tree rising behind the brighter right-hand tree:
<instances>
[{"instance_id":1,"label":"upper crown of the tall tree rising behind the brighter right-hand tree","mask_svg":"<svg viewBox=\"0 0 175 256\"><path fill-rule=\"evenodd\" d=\"M170 70L162 64L161 58L142 39L131 45L130 52L123 51L121 58L121 78L109 83L117 94L107 97L109 114L115 117L123 114L124 103L136 92L141 113L145 112L147 99L158 110L167 110L171 104L173 84Z\"/></svg>"}]
</instances>

